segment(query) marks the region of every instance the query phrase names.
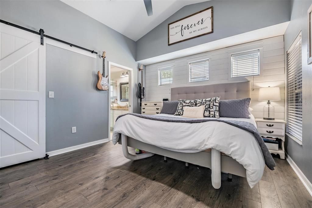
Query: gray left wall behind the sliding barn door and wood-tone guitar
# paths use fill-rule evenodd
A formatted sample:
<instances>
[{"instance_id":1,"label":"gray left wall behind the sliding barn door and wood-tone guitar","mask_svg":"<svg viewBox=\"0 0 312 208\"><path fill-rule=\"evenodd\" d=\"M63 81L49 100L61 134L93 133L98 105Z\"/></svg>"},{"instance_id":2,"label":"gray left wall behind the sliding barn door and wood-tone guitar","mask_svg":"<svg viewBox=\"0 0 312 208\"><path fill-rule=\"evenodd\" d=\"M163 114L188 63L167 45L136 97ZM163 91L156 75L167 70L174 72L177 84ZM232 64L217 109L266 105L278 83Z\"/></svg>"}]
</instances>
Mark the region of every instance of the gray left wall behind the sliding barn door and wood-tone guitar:
<instances>
[{"instance_id":1,"label":"gray left wall behind the sliding barn door and wood-tone guitar","mask_svg":"<svg viewBox=\"0 0 312 208\"><path fill-rule=\"evenodd\" d=\"M105 50L105 61L134 69L137 84L135 42L61 1L0 1L0 18L34 30L42 28L47 35L98 53ZM95 73L102 69L102 59L92 61L50 46L46 59L46 91L55 92L54 100L46 99L46 151L108 138L108 92L95 90ZM70 81L72 74L79 77L80 86ZM136 88L133 110L140 112L135 92ZM71 134L71 126L77 127L76 134Z\"/></svg>"}]
</instances>

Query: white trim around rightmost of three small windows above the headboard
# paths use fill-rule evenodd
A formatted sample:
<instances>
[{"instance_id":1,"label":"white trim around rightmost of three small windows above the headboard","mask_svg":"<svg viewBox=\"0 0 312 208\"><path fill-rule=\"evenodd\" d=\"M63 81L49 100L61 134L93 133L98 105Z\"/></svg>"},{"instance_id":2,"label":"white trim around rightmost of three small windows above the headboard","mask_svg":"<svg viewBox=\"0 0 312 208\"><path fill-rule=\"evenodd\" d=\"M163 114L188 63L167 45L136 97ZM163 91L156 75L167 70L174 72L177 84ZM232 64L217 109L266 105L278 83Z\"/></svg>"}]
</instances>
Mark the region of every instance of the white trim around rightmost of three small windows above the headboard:
<instances>
[{"instance_id":1,"label":"white trim around rightmost of three small windows above the headboard","mask_svg":"<svg viewBox=\"0 0 312 208\"><path fill-rule=\"evenodd\" d=\"M232 54L236 53L244 53L244 52L252 52L259 50L259 75L252 75L252 76L241 76L241 77L232 77ZM263 48L262 46L256 47L243 47L238 48L236 50L229 50L228 51L228 81L246 81L249 77L257 77L257 78L263 78Z\"/></svg>"}]
</instances>

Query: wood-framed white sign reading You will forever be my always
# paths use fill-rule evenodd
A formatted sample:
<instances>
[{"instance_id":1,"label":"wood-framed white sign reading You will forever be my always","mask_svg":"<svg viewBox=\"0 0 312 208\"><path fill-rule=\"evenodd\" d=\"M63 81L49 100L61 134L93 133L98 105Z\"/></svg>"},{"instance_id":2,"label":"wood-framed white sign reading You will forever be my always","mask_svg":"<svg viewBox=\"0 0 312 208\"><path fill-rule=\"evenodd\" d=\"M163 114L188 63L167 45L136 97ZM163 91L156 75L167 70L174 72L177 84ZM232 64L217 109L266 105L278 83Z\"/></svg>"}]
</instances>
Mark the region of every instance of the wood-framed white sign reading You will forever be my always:
<instances>
[{"instance_id":1,"label":"wood-framed white sign reading You will forever be my always","mask_svg":"<svg viewBox=\"0 0 312 208\"><path fill-rule=\"evenodd\" d=\"M213 7L168 24L168 46L213 32Z\"/></svg>"}]
</instances>

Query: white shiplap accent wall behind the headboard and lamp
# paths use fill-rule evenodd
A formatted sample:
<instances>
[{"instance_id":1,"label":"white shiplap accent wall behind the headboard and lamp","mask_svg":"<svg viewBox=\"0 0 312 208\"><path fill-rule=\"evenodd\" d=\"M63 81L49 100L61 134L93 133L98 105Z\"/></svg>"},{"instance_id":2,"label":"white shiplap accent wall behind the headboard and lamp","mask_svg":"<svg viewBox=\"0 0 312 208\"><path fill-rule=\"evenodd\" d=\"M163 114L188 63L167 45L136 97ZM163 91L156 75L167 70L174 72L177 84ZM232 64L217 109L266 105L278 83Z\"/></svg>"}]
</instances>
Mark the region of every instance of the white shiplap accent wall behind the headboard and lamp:
<instances>
[{"instance_id":1,"label":"white shiplap accent wall behind the headboard and lamp","mask_svg":"<svg viewBox=\"0 0 312 208\"><path fill-rule=\"evenodd\" d=\"M255 77L231 78L231 54L260 49L260 75ZM209 58L209 80L188 82L188 63ZM173 84L158 86L158 68L173 66ZM251 107L256 118L263 117L264 101L258 101L260 87L280 87L281 101L272 101L275 118L284 119L285 115L285 63L284 36L277 36L244 43L232 47L182 57L146 66L145 101L162 101L169 98L172 87L209 85L227 82L251 81Z\"/></svg>"}]
</instances>

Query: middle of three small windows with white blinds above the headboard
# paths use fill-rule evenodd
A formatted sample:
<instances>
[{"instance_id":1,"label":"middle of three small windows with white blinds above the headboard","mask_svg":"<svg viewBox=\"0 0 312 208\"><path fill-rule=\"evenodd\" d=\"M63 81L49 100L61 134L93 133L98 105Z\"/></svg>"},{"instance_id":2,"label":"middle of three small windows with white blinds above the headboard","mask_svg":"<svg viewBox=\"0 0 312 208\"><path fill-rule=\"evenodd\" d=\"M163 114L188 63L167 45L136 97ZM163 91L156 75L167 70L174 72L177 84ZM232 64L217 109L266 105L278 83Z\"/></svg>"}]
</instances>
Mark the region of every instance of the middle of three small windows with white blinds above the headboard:
<instances>
[{"instance_id":1,"label":"middle of three small windows with white blinds above the headboard","mask_svg":"<svg viewBox=\"0 0 312 208\"><path fill-rule=\"evenodd\" d=\"M198 82L209 80L209 61L208 59L190 62L189 66L189 82Z\"/></svg>"}]
</instances>

